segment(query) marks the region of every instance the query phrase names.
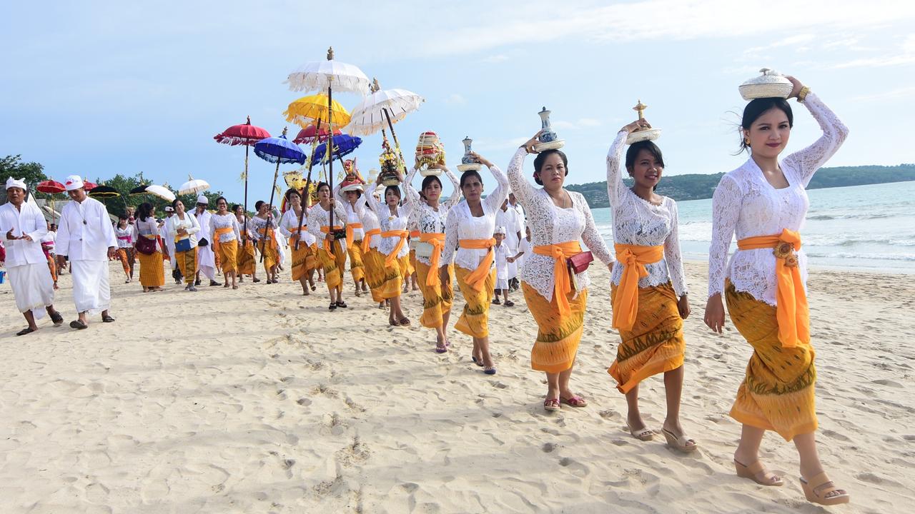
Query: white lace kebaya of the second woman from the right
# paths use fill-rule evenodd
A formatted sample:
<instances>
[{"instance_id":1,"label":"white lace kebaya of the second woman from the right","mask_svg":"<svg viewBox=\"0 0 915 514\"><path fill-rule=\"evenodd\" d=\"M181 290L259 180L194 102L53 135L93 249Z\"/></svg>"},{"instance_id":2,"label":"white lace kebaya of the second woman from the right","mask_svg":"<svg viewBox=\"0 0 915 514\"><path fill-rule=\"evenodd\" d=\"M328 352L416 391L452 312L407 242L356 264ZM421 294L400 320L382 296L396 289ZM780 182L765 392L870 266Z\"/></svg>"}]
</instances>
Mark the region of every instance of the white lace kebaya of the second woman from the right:
<instances>
[{"instance_id":1,"label":"white lace kebaya of the second woman from the right","mask_svg":"<svg viewBox=\"0 0 915 514\"><path fill-rule=\"evenodd\" d=\"M620 244L664 247L664 258L645 264L648 276L639 279L639 287L654 287L670 282L673 292L687 293L684 281L683 254L678 235L677 202L663 197L661 205L654 205L632 192L623 184L626 137L629 132L619 131L607 154L607 195L613 209L613 241ZM613 266L610 282L619 285L625 266Z\"/></svg>"}]
</instances>

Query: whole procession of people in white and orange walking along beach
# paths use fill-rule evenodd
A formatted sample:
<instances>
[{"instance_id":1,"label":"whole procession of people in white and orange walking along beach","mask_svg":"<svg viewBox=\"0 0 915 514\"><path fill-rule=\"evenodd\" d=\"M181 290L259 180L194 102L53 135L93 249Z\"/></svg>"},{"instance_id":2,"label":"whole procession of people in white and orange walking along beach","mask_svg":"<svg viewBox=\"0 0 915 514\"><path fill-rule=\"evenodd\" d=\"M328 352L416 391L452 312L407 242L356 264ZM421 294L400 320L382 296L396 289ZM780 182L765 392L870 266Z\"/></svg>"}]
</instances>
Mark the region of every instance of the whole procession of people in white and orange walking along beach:
<instances>
[{"instance_id":1,"label":"whole procession of people in white and orange walking along beach","mask_svg":"<svg viewBox=\"0 0 915 514\"><path fill-rule=\"evenodd\" d=\"M826 476L814 441L816 370L798 230L810 203L805 188L848 129L809 88L787 79L787 98L811 112L823 135L782 158L793 126L787 99L757 98L747 104L740 148L748 160L721 178L713 198L705 324L720 333L727 305L731 322L753 348L730 412L742 423L734 454L737 476L762 486L783 484L759 461L763 434L774 431L797 447L806 498L834 505L847 502L849 495ZM485 180L476 169L458 177L447 166L424 167L417 160L410 172L404 174L405 166L397 170L395 183L379 175L370 184L353 164L355 181L336 188L320 182L314 199L307 188L292 187L284 195L285 211L258 200L250 218L239 206L230 209L225 198L210 206L200 196L193 212L175 200L164 223L156 220L151 204L143 203L135 216L118 213L113 224L102 203L87 197L81 178L71 176L65 187L72 201L61 212L53 241L56 262L50 266L42 250L46 221L25 201L25 182L10 177L0 229L16 307L27 321L17 335L38 330L44 314L55 326L63 323L54 305L55 263L57 269L70 264L77 315L70 327L85 329L90 316L114 322L110 259L123 264L126 283L134 280L139 265L144 292L164 289L166 265L175 270L173 277L183 277L185 290L194 292L200 284L236 290L245 276L260 282L257 263L264 266L265 284L277 284L288 251L289 278L301 285L303 295L319 295L329 311L344 311L351 308L344 300L344 283L351 280L356 296L371 294L372 305L387 310L391 327L409 327L408 313L421 313L418 324L435 331L435 351L441 354L454 348L448 333L457 283L463 305L452 328L471 337L472 361L493 375L498 370L490 345L501 340L491 319L498 313L490 309L513 306L511 291L520 290L537 327L530 366L545 374L545 412L587 407L586 395L572 380L583 329L586 323L612 326L619 343L616 358L607 363L608 388L616 387L626 399L631 436L650 441L656 435L640 411L640 383L661 375L666 399L661 434L674 450L692 453L701 442L680 417L687 371L684 323L691 313L678 208L673 198L655 191L665 167L660 146L652 138L632 142L633 134L651 128L640 115L609 143L612 241L598 233L586 199L565 188L569 158L557 148L544 149L542 133L521 145L507 173L468 153L474 164L488 168L491 178ZM536 155L535 185L524 176L531 154ZM412 182L421 168L430 173L417 190ZM631 186L623 182L624 174ZM441 177L451 183L449 194ZM735 238L737 252L729 256ZM609 287L591 282L587 269L595 259L607 266ZM327 296L317 292L322 276ZM414 284L421 304L404 295ZM587 300L594 294L609 295L612 312L586 320Z\"/></svg>"}]
</instances>

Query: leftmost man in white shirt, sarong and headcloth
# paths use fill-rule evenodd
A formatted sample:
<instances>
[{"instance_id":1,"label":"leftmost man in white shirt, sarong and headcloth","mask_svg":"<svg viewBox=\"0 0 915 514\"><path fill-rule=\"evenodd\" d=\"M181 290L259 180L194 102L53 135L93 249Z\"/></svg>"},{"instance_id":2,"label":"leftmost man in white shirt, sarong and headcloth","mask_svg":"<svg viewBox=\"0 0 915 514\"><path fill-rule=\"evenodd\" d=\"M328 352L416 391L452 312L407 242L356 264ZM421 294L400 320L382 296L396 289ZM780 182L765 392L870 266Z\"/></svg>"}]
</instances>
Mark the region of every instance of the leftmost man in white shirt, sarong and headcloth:
<instances>
[{"instance_id":1,"label":"leftmost man in white shirt, sarong and headcloth","mask_svg":"<svg viewBox=\"0 0 915 514\"><path fill-rule=\"evenodd\" d=\"M16 332L25 336L38 330L36 319L51 316L54 326L63 323L63 316L54 309L54 281L48 270L48 260L41 250L41 239L48 234L48 223L34 204L26 201L26 182L9 177L6 199L0 206L0 231L6 248L6 271L16 297L16 308L26 317L28 327Z\"/></svg>"}]
</instances>

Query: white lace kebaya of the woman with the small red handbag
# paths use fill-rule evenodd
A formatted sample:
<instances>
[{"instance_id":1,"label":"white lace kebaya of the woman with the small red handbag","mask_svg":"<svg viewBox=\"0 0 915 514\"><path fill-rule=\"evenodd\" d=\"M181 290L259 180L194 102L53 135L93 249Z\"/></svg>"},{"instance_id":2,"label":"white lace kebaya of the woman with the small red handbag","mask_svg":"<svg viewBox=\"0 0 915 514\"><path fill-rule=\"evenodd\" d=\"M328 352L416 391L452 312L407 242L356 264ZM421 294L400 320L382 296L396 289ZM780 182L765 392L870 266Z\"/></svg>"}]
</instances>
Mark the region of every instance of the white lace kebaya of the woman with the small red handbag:
<instances>
[{"instance_id":1,"label":"white lace kebaya of the woman with the small red handbag","mask_svg":"<svg viewBox=\"0 0 915 514\"><path fill-rule=\"evenodd\" d=\"M511 191L527 214L527 226L531 229L532 247L566 241L584 241L587 250L590 250L600 262L605 264L614 262L613 255L607 249L607 243L597 232L585 197L581 193L567 191L569 198L572 198L572 207L568 209L556 207L545 189L533 187L523 177L524 157L526 156L527 152L523 148L519 148L515 152L515 155L511 157L508 175ZM501 206L501 204L499 205ZM554 266L555 260L550 255L533 252L524 254L521 280L524 284L533 287L547 302L553 301ZM591 284L587 271L576 274L576 283L578 288L575 297L578 296L579 291L587 289Z\"/></svg>"}]
</instances>

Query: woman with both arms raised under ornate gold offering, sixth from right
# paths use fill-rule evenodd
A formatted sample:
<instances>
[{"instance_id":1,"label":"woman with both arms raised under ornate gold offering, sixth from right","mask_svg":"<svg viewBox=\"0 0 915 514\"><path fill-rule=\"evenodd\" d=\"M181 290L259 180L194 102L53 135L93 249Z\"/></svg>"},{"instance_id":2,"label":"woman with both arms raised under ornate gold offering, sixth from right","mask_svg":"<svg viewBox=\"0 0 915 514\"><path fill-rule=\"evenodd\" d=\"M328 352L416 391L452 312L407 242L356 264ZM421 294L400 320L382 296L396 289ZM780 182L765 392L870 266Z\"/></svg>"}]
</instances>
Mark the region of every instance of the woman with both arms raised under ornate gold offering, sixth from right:
<instances>
[{"instance_id":1,"label":"woman with both arms raised under ornate gold offering, sixth from right","mask_svg":"<svg viewBox=\"0 0 915 514\"><path fill-rule=\"evenodd\" d=\"M403 182L404 176L398 171L397 178ZM377 184L381 185L382 175L379 174ZM410 276L409 252L406 238L407 218L413 209L409 205L400 205L401 192L397 186L384 188L384 203L371 195L362 195L366 205L378 216L378 223L382 229L382 240L379 242L378 251L384 258L385 279L379 294L391 303L388 313L388 323L393 327L408 327L410 319L404 316L401 306L401 284Z\"/></svg>"}]
</instances>

